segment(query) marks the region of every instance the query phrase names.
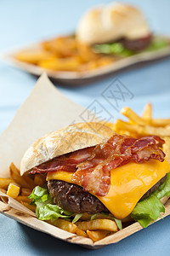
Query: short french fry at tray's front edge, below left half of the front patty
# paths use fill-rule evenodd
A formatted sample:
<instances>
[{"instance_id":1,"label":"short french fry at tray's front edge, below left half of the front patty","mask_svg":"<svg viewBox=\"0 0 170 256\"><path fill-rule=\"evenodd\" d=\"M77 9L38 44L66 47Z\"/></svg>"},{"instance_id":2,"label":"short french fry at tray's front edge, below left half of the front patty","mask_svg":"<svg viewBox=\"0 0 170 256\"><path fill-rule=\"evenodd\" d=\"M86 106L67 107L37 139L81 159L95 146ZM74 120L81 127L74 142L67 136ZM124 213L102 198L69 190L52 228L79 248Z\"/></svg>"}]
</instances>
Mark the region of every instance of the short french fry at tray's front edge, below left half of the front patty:
<instances>
[{"instance_id":1,"label":"short french fry at tray's front edge, below left half of the front patty","mask_svg":"<svg viewBox=\"0 0 170 256\"><path fill-rule=\"evenodd\" d=\"M65 219L58 218L55 220L49 219L47 221L49 224L53 224L54 226L58 227L61 230L65 230L68 232L71 232L73 234L76 234L77 232L77 225L73 224Z\"/></svg>"}]
</instances>

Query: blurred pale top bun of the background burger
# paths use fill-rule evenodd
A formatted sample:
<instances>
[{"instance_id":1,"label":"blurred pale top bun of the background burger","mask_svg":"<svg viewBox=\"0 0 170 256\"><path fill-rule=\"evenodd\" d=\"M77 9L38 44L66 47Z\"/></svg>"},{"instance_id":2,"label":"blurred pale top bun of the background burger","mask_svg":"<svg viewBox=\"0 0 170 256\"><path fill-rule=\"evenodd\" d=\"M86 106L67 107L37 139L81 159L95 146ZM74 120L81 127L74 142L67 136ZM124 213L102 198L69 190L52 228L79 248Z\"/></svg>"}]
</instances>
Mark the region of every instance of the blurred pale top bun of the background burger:
<instances>
[{"instance_id":1,"label":"blurred pale top bun of the background burger","mask_svg":"<svg viewBox=\"0 0 170 256\"><path fill-rule=\"evenodd\" d=\"M139 9L126 3L110 3L89 9L77 26L77 39L102 44L118 38L143 38L150 33Z\"/></svg>"}]
</instances>

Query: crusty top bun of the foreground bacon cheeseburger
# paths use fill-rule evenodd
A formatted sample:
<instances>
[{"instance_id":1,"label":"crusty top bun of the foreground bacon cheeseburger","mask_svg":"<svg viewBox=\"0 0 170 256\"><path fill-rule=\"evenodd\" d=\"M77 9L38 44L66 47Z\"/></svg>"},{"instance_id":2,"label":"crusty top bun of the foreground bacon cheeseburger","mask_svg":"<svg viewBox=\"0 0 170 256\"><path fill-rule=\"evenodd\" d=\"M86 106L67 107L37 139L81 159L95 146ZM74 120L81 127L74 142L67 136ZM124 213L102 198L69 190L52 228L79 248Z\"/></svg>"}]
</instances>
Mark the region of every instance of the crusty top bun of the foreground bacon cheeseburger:
<instances>
[{"instance_id":1,"label":"crusty top bun of the foreground bacon cheeseburger","mask_svg":"<svg viewBox=\"0 0 170 256\"><path fill-rule=\"evenodd\" d=\"M27 149L20 163L20 174L62 154L102 143L114 131L101 123L79 123L40 138Z\"/></svg>"}]
</instances>

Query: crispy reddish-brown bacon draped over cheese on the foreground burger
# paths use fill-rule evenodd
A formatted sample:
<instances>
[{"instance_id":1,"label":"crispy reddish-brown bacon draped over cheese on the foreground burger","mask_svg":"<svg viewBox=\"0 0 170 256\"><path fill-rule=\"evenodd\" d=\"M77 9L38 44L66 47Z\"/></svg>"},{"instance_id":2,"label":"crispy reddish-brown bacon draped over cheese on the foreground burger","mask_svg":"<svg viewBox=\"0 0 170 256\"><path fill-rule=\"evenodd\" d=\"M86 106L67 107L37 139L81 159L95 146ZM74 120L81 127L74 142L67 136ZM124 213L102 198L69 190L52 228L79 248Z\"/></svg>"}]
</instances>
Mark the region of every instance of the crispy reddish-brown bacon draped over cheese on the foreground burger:
<instances>
[{"instance_id":1,"label":"crispy reddish-brown bacon draped over cheese on the foreground burger","mask_svg":"<svg viewBox=\"0 0 170 256\"><path fill-rule=\"evenodd\" d=\"M163 161L165 154L158 146L160 137L133 137L113 135L106 143L65 154L35 167L31 173L74 172L72 181L94 195L107 195L111 186L111 170L128 162L143 163L155 159Z\"/></svg>"}]
</instances>

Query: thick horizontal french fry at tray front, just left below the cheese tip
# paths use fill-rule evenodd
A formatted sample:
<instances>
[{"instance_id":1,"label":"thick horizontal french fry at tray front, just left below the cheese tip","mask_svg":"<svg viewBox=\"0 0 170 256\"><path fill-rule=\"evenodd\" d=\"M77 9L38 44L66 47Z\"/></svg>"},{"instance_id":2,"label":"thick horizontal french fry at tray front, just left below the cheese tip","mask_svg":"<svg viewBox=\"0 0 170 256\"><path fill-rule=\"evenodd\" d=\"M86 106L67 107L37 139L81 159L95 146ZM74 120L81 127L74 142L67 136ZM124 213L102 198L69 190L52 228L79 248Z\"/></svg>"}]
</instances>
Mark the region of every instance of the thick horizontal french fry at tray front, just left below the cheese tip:
<instances>
[{"instance_id":1,"label":"thick horizontal french fry at tray front, just left below the cheese tip","mask_svg":"<svg viewBox=\"0 0 170 256\"><path fill-rule=\"evenodd\" d=\"M117 225L114 220L111 219L94 219L89 221L78 221L77 227L80 230L108 230L108 231L117 231Z\"/></svg>"}]
</instances>

